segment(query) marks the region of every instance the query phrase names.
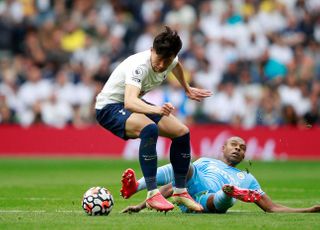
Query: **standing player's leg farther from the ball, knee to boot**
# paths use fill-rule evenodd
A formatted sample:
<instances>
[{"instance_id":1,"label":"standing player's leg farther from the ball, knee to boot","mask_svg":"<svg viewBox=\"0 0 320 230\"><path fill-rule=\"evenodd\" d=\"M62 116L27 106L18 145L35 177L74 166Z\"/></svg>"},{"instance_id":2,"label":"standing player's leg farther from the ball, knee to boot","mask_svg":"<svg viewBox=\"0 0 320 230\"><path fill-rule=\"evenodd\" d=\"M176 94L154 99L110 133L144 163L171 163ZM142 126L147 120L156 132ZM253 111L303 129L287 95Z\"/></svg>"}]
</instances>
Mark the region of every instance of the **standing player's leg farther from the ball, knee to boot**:
<instances>
[{"instance_id":1,"label":"standing player's leg farther from the ball, knee to boot","mask_svg":"<svg viewBox=\"0 0 320 230\"><path fill-rule=\"evenodd\" d=\"M195 202L186 189L187 173L190 166L190 134L189 129L173 115L164 116L158 123L160 136L172 140L170 146L170 162L174 172L175 187L173 200L193 211L202 211L200 204Z\"/></svg>"}]
</instances>

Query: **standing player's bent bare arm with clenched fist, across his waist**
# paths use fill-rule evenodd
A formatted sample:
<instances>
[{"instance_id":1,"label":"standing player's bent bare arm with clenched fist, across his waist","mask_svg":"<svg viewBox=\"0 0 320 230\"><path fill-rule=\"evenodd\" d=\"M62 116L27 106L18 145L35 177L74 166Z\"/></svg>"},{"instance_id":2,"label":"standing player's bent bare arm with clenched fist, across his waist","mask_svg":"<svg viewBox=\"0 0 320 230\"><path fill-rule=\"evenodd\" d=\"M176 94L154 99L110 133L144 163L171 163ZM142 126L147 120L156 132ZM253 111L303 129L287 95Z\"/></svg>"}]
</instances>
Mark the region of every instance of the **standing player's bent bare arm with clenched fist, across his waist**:
<instances>
[{"instance_id":1,"label":"standing player's bent bare arm with clenched fist, across his waist","mask_svg":"<svg viewBox=\"0 0 320 230\"><path fill-rule=\"evenodd\" d=\"M134 85L126 84L124 94L124 106L134 113L160 114L168 116L174 107L171 103L165 103L163 106L153 106L145 103L139 98L140 89Z\"/></svg>"}]
</instances>

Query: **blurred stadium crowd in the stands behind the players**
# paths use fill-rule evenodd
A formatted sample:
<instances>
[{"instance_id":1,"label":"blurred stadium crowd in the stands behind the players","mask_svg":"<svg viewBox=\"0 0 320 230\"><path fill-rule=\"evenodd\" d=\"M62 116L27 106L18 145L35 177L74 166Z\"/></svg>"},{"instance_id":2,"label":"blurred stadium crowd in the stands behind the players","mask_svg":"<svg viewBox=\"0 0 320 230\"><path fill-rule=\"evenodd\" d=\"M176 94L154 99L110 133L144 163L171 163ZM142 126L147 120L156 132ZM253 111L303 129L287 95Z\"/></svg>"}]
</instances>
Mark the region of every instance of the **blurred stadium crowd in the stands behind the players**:
<instances>
[{"instance_id":1,"label":"blurred stadium crowd in the stands behind the players","mask_svg":"<svg viewBox=\"0 0 320 230\"><path fill-rule=\"evenodd\" d=\"M319 0L0 0L0 124L95 123L113 68L169 25L191 85L146 95L185 123L250 128L320 124Z\"/></svg>"}]
</instances>

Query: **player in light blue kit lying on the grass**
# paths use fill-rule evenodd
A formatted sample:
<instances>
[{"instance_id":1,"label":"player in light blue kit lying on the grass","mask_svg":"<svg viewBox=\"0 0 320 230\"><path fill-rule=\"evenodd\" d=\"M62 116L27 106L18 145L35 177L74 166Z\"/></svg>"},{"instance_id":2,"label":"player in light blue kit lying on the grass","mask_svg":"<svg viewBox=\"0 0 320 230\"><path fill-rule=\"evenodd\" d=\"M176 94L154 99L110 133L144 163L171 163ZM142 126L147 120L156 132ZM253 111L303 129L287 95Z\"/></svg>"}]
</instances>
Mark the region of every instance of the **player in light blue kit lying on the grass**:
<instances>
[{"instance_id":1,"label":"player in light blue kit lying on the grass","mask_svg":"<svg viewBox=\"0 0 320 230\"><path fill-rule=\"evenodd\" d=\"M229 138L222 147L222 160L200 158L190 164L187 188L190 195L199 202L205 213L225 213L236 200L252 202L265 212L320 212L320 205L310 208L290 208L274 203L262 191L258 181L249 172L236 168L245 156L246 144L240 137ZM174 181L170 164L158 168L157 181L165 197L172 194ZM127 169L122 179L122 196L129 198L145 188L145 180L136 181L132 169ZM139 212L146 207L145 202L129 206L122 212ZM190 210L180 205L183 212Z\"/></svg>"}]
</instances>

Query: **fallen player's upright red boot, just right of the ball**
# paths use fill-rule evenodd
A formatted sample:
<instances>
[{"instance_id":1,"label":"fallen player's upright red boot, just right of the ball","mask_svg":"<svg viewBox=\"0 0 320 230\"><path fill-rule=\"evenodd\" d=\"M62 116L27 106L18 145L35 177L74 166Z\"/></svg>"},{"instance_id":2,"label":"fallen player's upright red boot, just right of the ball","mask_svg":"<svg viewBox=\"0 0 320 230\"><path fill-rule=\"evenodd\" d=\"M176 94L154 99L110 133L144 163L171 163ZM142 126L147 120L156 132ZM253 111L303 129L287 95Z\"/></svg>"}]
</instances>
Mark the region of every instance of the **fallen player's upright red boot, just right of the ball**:
<instances>
[{"instance_id":1,"label":"fallen player's upright red boot, just right of the ball","mask_svg":"<svg viewBox=\"0 0 320 230\"><path fill-rule=\"evenodd\" d=\"M120 190L120 194L124 199L130 198L133 194L137 192L138 189L138 181L136 180L136 175L133 169L127 169L122 174L122 187Z\"/></svg>"}]
</instances>

